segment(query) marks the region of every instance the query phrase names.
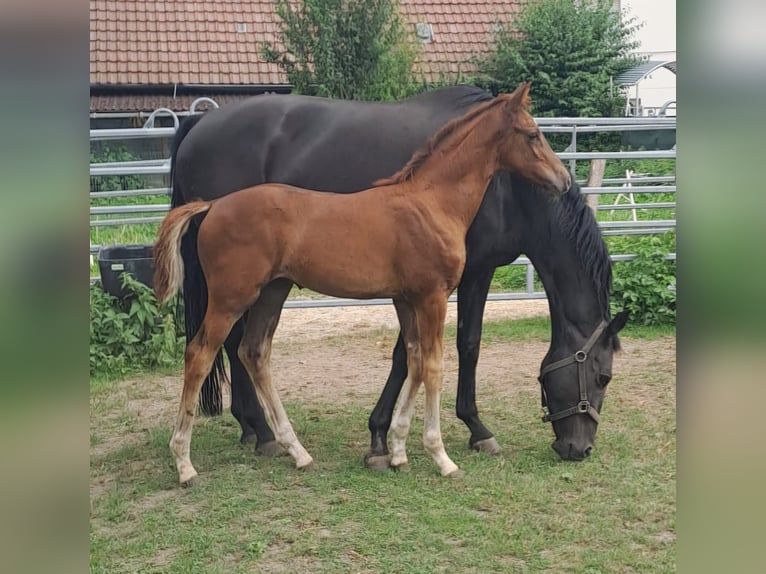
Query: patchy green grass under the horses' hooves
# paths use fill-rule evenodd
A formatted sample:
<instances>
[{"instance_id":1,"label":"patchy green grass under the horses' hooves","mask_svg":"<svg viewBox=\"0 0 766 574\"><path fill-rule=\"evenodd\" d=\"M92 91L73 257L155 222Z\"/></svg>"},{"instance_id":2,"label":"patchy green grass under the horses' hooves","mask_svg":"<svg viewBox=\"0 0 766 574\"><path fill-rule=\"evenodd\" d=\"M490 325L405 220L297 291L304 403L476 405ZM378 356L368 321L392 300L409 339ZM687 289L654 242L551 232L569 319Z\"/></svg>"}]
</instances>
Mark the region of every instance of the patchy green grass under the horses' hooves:
<instances>
[{"instance_id":1,"label":"patchy green grass under the horses' hooves","mask_svg":"<svg viewBox=\"0 0 766 574\"><path fill-rule=\"evenodd\" d=\"M549 326L490 323L485 333L488 345L545 340ZM483 394L482 415L504 448L497 457L465 448L454 397L444 397L445 445L464 479L440 478L415 430L410 473L371 473L361 461L368 407L328 398L286 402L315 457L307 473L237 446L229 414L198 420L201 476L191 489L177 487L168 421L139 423L117 383L101 379L91 395L91 572L674 571L674 404L642 409L632 395L667 399L674 381L635 378L610 389L584 463L557 459L549 425L528 416L539 401L529 390L513 395L512 410L508 396Z\"/></svg>"}]
</instances>

